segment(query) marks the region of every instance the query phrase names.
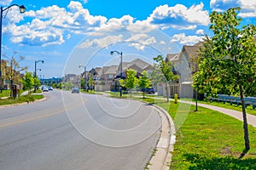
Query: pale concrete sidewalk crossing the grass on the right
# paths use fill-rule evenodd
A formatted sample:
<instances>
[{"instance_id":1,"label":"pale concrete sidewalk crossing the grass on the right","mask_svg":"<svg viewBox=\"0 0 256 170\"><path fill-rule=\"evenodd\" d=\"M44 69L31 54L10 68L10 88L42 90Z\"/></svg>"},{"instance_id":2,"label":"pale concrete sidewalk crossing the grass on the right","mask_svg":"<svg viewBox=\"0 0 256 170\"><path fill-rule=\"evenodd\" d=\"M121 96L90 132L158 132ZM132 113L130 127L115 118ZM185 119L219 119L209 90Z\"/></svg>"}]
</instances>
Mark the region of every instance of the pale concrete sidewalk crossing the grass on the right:
<instances>
[{"instance_id":1,"label":"pale concrete sidewalk crossing the grass on the right","mask_svg":"<svg viewBox=\"0 0 256 170\"><path fill-rule=\"evenodd\" d=\"M191 102L191 101L179 100L179 102L187 103L189 105L195 105L195 102ZM234 111L234 110L225 109L225 108L214 106L214 105L206 105L206 104L200 104L200 103L198 103L197 105L201 107L205 107L207 109L211 109L213 111L219 111L221 113L224 113L225 115L235 117L236 119L243 122L241 111ZM256 116L247 114L247 123L252 125L253 127L256 127Z\"/></svg>"}]
</instances>

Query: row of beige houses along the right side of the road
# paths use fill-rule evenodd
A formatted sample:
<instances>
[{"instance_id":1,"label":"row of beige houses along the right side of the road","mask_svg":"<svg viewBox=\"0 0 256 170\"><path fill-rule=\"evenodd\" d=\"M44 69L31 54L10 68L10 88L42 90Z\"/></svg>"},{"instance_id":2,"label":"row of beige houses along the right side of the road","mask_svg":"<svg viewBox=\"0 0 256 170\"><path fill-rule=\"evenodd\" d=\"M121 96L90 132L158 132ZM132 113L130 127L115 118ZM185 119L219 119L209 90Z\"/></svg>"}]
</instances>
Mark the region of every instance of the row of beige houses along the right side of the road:
<instances>
[{"instance_id":1,"label":"row of beige houses along the right side of the road","mask_svg":"<svg viewBox=\"0 0 256 170\"><path fill-rule=\"evenodd\" d=\"M166 61L172 62L174 71L179 76L179 80L170 84L170 87L168 88L170 90L168 93L169 95L174 96L174 94L177 94L180 98L195 97L195 92L192 88L192 68L195 67L195 65L192 65L190 58L197 55L201 45L202 43L199 42L194 46L183 46L180 53L166 55ZM69 74L63 78L63 81L72 81L76 86L79 86L80 78L88 80L90 75L92 75L96 82L96 91L117 91L119 88L118 80L119 78L125 78L127 69L137 71L137 76L140 76L143 71L148 71L150 75L150 73L154 70L154 67L143 59L134 59L131 62L123 62L122 71L120 69L120 65L96 67L90 71L84 71L81 75ZM124 77L120 77L121 75ZM160 83L154 88L157 89L158 94L166 96L167 93L165 84Z\"/></svg>"}]
</instances>

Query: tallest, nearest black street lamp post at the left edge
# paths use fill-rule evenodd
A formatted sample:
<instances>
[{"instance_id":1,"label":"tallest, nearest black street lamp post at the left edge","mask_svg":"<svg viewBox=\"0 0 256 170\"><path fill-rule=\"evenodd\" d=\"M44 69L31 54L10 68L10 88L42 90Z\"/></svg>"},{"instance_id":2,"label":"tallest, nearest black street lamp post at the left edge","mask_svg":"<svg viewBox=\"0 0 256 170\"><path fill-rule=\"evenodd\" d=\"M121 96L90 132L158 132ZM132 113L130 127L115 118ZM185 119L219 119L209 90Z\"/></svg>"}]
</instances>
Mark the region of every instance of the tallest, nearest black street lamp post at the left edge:
<instances>
[{"instance_id":1,"label":"tallest, nearest black street lamp post at the left edge","mask_svg":"<svg viewBox=\"0 0 256 170\"><path fill-rule=\"evenodd\" d=\"M2 93L2 89L3 89L3 77L2 77L2 20L3 18L5 18L6 14L8 13L9 8L13 7L13 6L18 6L20 8L20 14L23 14L26 12L26 8L24 7L24 5L18 5L18 4L12 4L7 8L3 8L1 6L1 11L0 11L0 89L1 89L1 93ZM6 14L3 17L3 12L6 11Z\"/></svg>"}]
</instances>

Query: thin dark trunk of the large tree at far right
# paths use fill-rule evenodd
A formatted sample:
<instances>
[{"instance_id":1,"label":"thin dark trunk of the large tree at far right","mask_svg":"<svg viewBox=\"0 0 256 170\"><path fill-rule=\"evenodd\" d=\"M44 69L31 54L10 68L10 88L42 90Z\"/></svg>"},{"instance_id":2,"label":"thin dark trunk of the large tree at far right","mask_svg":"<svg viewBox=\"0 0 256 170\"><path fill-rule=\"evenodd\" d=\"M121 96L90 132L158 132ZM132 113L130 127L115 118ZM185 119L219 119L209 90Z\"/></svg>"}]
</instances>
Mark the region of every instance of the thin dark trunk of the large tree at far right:
<instances>
[{"instance_id":1,"label":"thin dark trunk of the large tree at far right","mask_svg":"<svg viewBox=\"0 0 256 170\"><path fill-rule=\"evenodd\" d=\"M245 142L245 153L250 150L250 141L249 141L249 133L248 133L248 126L247 126L247 113L245 109L245 103L243 99L243 91L241 85L239 85L240 91L240 99L241 99L241 111L243 117L243 130L244 130L244 142Z\"/></svg>"}]
</instances>

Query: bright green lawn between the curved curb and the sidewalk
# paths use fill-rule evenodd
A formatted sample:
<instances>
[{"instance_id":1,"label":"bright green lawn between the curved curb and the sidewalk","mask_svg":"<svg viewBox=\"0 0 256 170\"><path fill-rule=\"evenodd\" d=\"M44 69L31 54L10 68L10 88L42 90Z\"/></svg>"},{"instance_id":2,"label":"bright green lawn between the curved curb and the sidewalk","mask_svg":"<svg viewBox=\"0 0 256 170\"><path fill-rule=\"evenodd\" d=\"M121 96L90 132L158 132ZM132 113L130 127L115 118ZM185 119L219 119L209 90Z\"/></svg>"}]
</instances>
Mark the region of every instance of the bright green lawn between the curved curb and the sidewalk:
<instances>
[{"instance_id":1,"label":"bright green lawn between the curved curb and the sidewalk","mask_svg":"<svg viewBox=\"0 0 256 170\"><path fill-rule=\"evenodd\" d=\"M160 105L170 113L175 124L181 124L176 133L171 169L256 169L255 127L248 126L251 150L240 160L238 157L244 149L242 122L202 107L195 112L194 105L145 100Z\"/></svg>"}]
</instances>

